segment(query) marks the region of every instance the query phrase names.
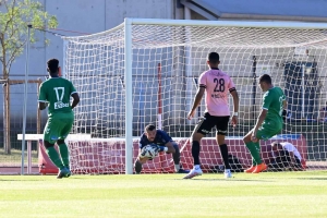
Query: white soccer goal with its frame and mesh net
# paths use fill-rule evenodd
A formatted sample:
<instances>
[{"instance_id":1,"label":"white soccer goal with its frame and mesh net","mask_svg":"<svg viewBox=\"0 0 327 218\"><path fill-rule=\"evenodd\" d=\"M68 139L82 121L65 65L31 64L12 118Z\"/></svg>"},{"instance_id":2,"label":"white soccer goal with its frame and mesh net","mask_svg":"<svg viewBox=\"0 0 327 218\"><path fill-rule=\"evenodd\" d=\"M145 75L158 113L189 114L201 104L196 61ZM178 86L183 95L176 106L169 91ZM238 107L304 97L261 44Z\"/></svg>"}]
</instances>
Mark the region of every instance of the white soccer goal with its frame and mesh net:
<instances>
[{"instance_id":1,"label":"white soccer goal with its frame and mesh net","mask_svg":"<svg viewBox=\"0 0 327 218\"><path fill-rule=\"evenodd\" d=\"M73 133L93 137L69 143L72 170L132 173L138 137L149 123L179 143L181 164L191 168L189 137L205 111L204 101L193 120L186 114L210 51L220 55L219 69L240 95L239 124L227 134L232 168L251 165L242 137L261 111L257 78L269 74L286 93L288 112L280 135L261 142L264 161L274 165L272 142L288 142L306 169L326 169L326 28L312 23L126 19L104 33L64 37L63 74L81 95ZM201 145L204 170L219 172L215 130ZM148 161L144 172L173 172L171 155Z\"/></svg>"}]
</instances>

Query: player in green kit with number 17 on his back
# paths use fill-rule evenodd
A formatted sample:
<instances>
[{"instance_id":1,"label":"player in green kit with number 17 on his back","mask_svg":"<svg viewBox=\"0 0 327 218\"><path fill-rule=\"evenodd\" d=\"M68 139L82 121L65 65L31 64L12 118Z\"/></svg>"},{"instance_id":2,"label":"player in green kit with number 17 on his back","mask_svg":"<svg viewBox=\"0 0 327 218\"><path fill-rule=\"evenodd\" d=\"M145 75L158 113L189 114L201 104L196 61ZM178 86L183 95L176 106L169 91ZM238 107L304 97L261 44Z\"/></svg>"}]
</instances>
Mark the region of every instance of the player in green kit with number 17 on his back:
<instances>
[{"instance_id":1,"label":"player in green kit with number 17 on his back","mask_svg":"<svg viewBox=\"0 0 327 218\"><path fill-rule=\"evenodd\" d=\"M73 122L73 108L80 102L80 96L73 84L62 77L59 77L59 61L50 59L48 62L49 78L45 81L39 88L38 108L44 110L48 106L48 122L44 131L44 144L51 161L59 168L57 179L70 177L69 149L64 138L70 133ZM73 97L72 105L70 97ZM60 156L55 148L57 143Z\"/></svg>"}]
</instances>

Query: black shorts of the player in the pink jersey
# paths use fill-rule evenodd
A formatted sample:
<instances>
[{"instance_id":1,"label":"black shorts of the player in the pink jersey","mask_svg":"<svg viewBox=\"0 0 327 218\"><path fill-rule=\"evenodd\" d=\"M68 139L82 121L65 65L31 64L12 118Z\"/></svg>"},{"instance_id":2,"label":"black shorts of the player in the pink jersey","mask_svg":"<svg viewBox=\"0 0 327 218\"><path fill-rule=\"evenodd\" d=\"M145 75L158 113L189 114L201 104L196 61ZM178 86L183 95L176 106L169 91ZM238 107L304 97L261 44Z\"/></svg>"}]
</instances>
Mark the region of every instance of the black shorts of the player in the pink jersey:
<instances>
[{"instance_id":1,"label":"black shorts of the player in the pink jersey","mask_svg":"<svg viewBox=\"0 0 327 218\"><path fill-rule=\"evenodd\" d=\"M228 130L229 116L215 117L208 112L204 113L204 117L199 119L195 126L195 132L201 134L210 133L211 129L216 126L217 135L226 135Z\"/></svg>"}]
</instances>

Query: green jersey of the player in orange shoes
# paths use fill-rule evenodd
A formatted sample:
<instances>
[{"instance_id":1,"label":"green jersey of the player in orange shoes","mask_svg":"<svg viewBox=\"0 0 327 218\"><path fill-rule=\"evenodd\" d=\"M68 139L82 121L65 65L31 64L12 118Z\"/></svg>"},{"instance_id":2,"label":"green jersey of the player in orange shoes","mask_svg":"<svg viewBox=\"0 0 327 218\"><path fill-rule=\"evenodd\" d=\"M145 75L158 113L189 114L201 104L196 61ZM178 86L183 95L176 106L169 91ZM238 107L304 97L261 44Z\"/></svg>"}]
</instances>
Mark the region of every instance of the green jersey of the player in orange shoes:
<instances>
[{"instance_id":1,"label":"green jersey of the player in orange shoes","mask_svg":"<svg viewBox=\"0 0 327 218\"><path fill-rule=\"evenodd\" d=\"M286 96L280 87L272 87L264 95L263 109L268 110L265 120L282 121L283 101Z\"/></svg>"}]
</instances>

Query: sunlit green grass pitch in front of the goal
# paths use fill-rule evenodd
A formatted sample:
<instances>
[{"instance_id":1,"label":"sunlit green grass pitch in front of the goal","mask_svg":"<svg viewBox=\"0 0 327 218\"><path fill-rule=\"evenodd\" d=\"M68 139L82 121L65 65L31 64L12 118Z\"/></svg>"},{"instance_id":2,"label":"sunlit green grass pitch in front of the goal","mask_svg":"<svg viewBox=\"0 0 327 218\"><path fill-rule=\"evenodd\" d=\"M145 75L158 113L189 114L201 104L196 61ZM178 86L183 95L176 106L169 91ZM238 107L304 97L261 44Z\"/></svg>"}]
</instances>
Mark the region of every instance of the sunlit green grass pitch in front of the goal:
<instances>
[{"instance_id":1,"label":"sunlit green grass pitch in front of the goal","mask_svg":"<svg viewBox=\"0 0 327 218\"><path fill-rule=\"evenodd\" d=\"M327 217L327 171L1 175L0 217Z\"/></svg>"}]
</instances>

